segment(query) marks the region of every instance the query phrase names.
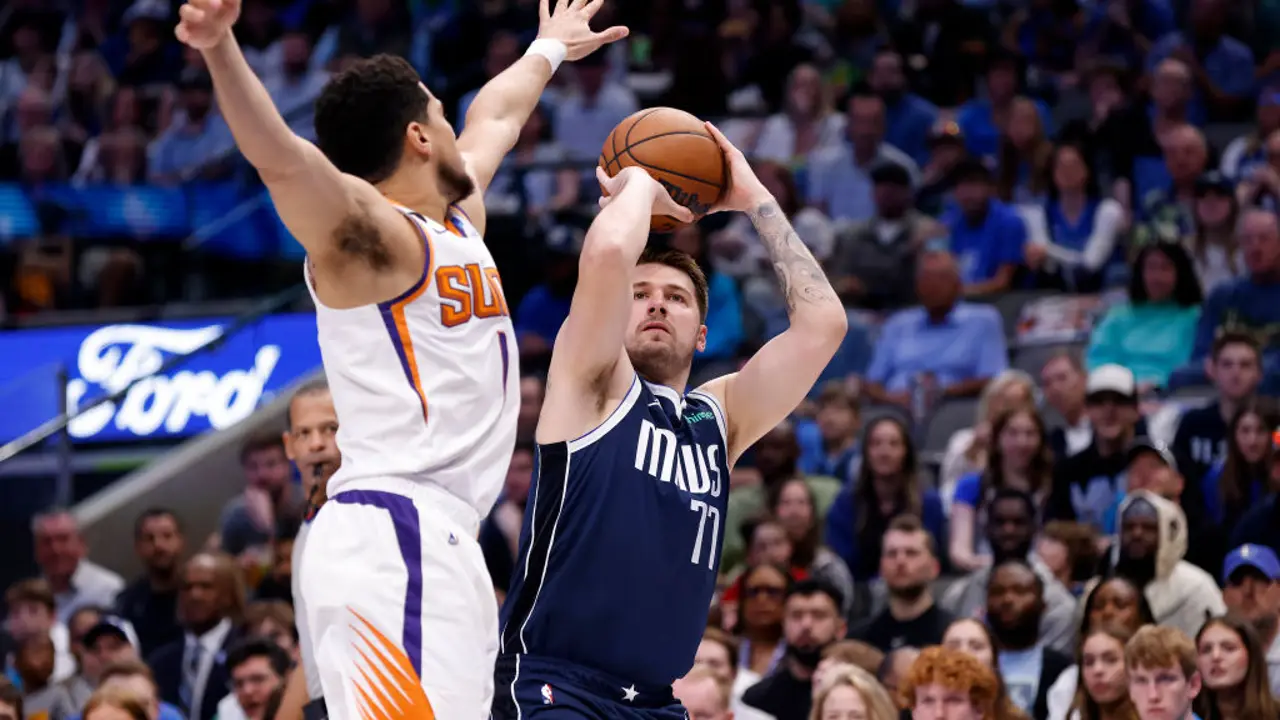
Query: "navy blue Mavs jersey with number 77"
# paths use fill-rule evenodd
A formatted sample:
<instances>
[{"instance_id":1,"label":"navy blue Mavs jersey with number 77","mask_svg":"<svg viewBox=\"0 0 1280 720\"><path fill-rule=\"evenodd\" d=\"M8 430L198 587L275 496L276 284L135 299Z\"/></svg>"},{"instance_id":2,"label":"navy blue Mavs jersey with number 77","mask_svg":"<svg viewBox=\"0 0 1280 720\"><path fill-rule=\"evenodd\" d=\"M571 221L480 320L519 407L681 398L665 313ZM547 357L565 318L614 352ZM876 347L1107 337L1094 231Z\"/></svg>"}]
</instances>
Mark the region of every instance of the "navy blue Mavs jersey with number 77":
<instances>
[{"instance_id":1,"label":"navy blue Mavs jersey with number 77","mask_svg":"<svg viewBox=\"0 0 1280 720\"><path fill-rule=\"evenodd\" d=\"M724 433L714 397L636 377L600 427L540 445L500 651L655 687L687 673L724 537Z\"/></svg>"}]
</instances>

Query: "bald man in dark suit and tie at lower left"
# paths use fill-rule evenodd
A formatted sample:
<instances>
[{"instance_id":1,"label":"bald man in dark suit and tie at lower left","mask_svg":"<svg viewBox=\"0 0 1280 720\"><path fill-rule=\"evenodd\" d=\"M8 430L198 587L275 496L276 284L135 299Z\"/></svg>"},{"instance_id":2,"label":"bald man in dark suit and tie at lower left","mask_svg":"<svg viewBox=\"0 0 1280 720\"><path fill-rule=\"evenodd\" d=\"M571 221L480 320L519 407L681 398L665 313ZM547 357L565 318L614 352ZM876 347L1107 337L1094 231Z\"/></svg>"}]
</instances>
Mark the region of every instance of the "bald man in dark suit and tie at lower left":
<instances>
[{"instance_id":1,"label":"bald man in dark suit and tie at lower left","mask_svg":"<svg viewBox=\"0 0 1280 720\"><path fill-rule=\"evenodd\" d=\"M147 665L161 700L191 720L212 720L228 692L227 650L241 637L243 610L244 588L232 557L202 552L187 561L178 588L183 638L151 653Z\"/></svg>"}]
</instances>

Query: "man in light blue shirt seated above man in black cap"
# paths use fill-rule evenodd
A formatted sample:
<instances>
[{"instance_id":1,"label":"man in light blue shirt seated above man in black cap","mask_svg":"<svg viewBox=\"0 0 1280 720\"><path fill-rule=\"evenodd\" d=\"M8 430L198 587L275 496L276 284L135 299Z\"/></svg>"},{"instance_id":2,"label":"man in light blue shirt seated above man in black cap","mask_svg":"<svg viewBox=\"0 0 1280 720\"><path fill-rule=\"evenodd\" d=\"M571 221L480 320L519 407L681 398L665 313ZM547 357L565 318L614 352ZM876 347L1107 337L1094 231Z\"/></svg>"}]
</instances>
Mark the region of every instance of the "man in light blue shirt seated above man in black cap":
<instances>
[{"instance_id":1,"label":"man in light blue shirt seated above man in black cap","mask_svg":"<svg viewBox=\"0 0 1280 720\"><path fill-rule=\"evenodd\" d=\"M809 205L833 220L867 220L876 215L870 172L886 163L906 168L911 184L919 168L905 152L884 142L884 101L865 86L855 88L846 111L846 142L815 150L809 159Z\"/></svg>"}]
</instances>

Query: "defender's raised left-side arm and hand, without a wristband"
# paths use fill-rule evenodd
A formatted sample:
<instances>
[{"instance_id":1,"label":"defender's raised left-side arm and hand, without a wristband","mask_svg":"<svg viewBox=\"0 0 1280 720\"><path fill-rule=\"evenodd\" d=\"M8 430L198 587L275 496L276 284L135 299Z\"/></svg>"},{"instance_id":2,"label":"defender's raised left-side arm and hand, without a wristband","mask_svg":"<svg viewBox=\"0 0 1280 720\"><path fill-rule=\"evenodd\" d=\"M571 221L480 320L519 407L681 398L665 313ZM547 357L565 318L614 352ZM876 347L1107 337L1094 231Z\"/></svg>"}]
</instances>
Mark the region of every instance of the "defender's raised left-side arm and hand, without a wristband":
<instances>
[{"instance_id":1,"label":"defender's raised left-side arm and hand, without a wristband","mask_svg":"<svg viewBox=\"0 0 1280 720\"><path fill-rule=\"evenodd\" d=\"M340 173L316 146L289 129L232 33L239 6L241 0L188 0L175 33L205 56L218 108L285 227L321 268L351 265L330 258L353 234L381 238L387 265L399 259L402 249L420 258L412 228L374 186Z\"/></svg>"}]
</instances>

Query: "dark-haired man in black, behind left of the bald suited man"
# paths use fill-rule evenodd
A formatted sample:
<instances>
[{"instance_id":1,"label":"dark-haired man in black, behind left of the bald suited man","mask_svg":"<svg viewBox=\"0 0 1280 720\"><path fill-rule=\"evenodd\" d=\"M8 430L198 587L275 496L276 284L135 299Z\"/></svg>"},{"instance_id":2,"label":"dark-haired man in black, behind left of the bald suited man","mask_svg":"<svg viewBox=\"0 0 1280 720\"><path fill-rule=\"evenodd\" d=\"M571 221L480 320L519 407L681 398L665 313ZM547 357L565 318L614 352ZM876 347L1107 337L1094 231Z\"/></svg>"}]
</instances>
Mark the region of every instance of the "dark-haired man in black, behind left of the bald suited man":
<instances>
[{"instance_id":1,"label":"dark-haired man in black, behind left of the bald suited man","mask_svg":"<svg viewBox=\"0 0 1280 720\"><path fill-rule=\"evenodd\" d=\"M133 550L145 575L124 588L116 607L138 632L143 655L182 637L178 626L178 570L187 538L172 510L151 509L133 527Z\"/></svg>"}]
</instances>

